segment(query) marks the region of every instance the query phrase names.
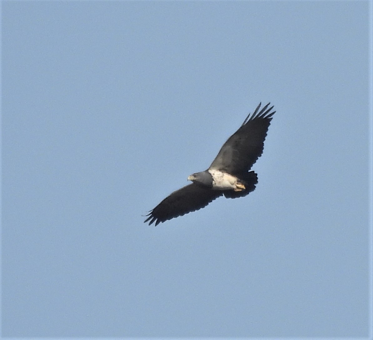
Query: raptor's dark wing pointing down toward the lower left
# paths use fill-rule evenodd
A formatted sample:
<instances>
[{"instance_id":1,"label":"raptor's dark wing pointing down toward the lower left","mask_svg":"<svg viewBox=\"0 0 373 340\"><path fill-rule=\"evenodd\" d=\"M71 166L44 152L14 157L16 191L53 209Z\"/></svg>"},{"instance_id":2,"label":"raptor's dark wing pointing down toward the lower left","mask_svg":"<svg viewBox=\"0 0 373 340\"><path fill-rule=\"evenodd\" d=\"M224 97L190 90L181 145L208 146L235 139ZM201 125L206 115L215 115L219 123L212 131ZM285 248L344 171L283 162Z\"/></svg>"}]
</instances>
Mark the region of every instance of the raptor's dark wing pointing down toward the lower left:
<instances>
[{"instance_id":1,"label":"raptor's dark wing pointing down toward the lower left","mask_svg":"<svg viewBox=\"0 0 373 340\"><path fill-rule=\"evenodd\" d=\"M215 198L221 196L222 191L211 190L200 187L197 184L189 184L174 191L170 196L164 198L151 212L144 222L160 222L170 220L174 217L182 216L192 211L206 207Z\"/></svg>"}]
</instances>

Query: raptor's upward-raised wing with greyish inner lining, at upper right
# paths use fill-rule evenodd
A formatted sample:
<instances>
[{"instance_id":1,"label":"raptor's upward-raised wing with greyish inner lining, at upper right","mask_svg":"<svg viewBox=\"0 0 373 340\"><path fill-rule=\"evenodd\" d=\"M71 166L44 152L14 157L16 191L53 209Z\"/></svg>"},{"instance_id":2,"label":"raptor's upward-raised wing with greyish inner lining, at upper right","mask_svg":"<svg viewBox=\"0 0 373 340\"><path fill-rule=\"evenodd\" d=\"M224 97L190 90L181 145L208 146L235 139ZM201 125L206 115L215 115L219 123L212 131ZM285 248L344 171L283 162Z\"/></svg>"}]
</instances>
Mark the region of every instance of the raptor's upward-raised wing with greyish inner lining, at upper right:
<instances>
[{"instance_id":1,"label":"raptor's upward-raised wing with greyish inner lining, at upper right","mask_svg":"<svg viewBox=\"0 0 373 340\"><path fill-rule=\"evenodd\" d=\"M241 174L250 170L263 153L264 139L272 116L276 112L271 112L273 106L268 108L269 104L259 111L260 103L253 115L249 114L246 117L241 127L224 143L210 169L229 174Z\"/></svg>"}]
</instances>

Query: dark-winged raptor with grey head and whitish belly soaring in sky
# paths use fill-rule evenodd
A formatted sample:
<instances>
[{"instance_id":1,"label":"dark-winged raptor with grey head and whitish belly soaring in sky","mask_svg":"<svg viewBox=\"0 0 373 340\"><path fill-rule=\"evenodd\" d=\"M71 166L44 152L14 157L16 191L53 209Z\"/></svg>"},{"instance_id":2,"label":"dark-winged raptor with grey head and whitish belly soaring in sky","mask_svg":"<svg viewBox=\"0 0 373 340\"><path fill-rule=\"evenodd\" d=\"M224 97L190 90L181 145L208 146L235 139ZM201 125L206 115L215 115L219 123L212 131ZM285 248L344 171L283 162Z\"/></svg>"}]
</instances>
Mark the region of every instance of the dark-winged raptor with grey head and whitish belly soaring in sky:
<instances>
[{"instance_id":1,"label":"dark-winged raptor with grey head and whitish belly soaring in sky","mask_svg":"<svg viewBox=\"0 0 373 340\"><path fill-rule=\"evenodd\" d=\"M249 171L263 153L269 124L276 111L270 103L249 114L239 129L223 144L210 167L188 177L191 184L174 191L151 210L144 222L149 225L206 207L224 195L226 198L244 197L254 191L257 174ZM260 111L259 111L260 110Z\"/></svg>"}]
</instances>

